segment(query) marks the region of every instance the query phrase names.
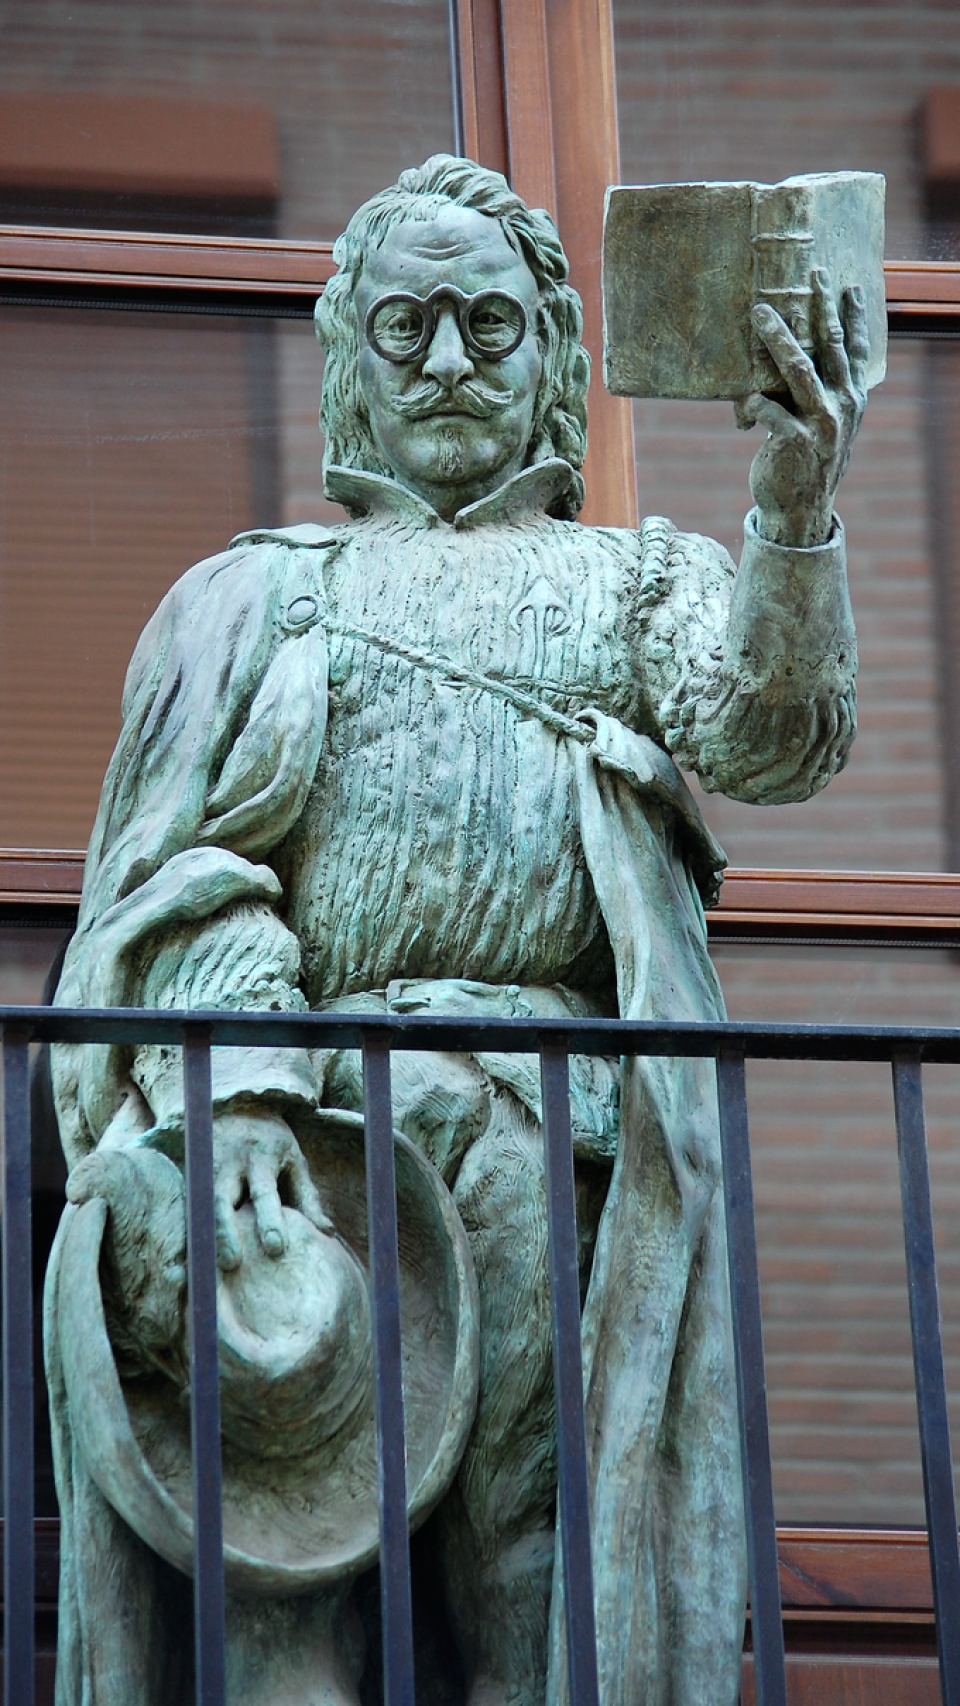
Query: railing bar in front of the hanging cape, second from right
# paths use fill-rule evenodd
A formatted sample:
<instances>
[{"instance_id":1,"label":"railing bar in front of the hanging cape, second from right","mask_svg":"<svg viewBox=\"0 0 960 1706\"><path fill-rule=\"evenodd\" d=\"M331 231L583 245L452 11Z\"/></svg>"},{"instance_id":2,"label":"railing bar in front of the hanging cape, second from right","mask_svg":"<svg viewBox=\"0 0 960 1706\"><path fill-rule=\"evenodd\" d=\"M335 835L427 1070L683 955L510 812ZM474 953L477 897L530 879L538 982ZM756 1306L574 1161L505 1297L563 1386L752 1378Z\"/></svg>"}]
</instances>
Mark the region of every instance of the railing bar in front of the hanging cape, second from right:
<instances>
[{"instance_id":1,"label":"railing bar in front of the hanging cape, second from right","mask_svg":"<svg viewBox=\"0 0 960 1706\"><path fill-rule=\"evenodd\" d=\"M733 1312L733 1358L740 1402L740 1462L747 1515L747 1568L757 1706L786 1706L786 1662L767 1425L760 1274L747 1123L743 1056L721 1049L716 1063L726 1257Z\"/></svg>"}]
</instances>

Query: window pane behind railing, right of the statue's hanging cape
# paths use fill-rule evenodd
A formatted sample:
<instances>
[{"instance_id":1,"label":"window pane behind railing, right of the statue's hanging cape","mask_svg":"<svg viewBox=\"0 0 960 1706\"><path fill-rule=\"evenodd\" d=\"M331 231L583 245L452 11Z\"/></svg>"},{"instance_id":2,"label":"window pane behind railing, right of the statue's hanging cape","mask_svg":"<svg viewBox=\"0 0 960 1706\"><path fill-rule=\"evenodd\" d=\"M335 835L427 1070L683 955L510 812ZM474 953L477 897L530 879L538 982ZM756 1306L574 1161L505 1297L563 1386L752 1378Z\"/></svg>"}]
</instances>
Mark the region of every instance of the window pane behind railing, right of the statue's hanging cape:
<instances>
[{"instance_id":1,"label":"window pane behind railing, right of the statue's hanging cape","mask_svg":"<svg viewBox=\"0 0 960 1706\"><path fill-rule=\"evenodd\" d=\"M732 1018L960 1024L951 952L716 947ZM781 1522L924 1522L888 1066L747 1076ZM924 1068L953 1440L960 1438L960 1070Z\"/></svg>"}]
</instances>

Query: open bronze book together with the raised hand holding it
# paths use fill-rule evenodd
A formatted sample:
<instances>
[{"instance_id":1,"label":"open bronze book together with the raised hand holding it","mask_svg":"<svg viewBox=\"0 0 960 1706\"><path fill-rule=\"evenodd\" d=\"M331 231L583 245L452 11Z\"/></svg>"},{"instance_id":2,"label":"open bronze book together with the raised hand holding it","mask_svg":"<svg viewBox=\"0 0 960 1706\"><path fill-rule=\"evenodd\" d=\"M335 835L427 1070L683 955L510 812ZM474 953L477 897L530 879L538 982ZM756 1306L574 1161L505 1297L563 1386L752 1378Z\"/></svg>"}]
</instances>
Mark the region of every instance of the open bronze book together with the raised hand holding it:
<instances>
[{"instance_id":1,"label":"open bronze book together with the raised hand holding it","mask_svg":"<svg viewBox=\"0 0 960 1706\"><path fill-rule=\"evenodd\" d=\"M759 532L830 536L870 386L885 374L883 177L607 191L604 377L619 396L730 397L767 428Z\"/></svg>"}]
</instances>

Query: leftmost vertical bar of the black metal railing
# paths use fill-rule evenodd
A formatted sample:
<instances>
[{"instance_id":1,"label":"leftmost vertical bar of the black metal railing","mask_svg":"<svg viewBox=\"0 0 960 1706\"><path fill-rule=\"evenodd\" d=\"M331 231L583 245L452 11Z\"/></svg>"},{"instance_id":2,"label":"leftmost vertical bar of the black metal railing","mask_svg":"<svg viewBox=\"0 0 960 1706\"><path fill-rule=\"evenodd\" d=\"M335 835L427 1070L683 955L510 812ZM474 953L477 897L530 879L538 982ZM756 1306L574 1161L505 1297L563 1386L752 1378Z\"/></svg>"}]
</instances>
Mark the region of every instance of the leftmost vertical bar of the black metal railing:
<instances>
[{"instance_id":1,"label":"leftmost vertical bar of the black metal railing","mask_svg":"<svg viewBox=\"0 0 960 1706\"><path fill-rule=\"evenodd\" d=\"M3 1701L34 1703L34 1307L29 1034L3 1030Z\"/></svg>"}]
</instances>

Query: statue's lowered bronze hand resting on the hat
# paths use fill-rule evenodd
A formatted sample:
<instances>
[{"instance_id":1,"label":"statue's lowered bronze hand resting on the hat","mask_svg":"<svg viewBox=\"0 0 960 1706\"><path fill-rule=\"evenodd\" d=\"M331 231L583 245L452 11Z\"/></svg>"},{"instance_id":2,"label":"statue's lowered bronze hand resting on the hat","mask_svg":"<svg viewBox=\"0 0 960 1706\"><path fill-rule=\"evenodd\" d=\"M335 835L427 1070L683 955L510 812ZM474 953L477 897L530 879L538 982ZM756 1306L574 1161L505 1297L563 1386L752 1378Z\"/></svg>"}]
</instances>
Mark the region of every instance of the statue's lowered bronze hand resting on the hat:
<instances>
[{"instance_id":1,"label":"statue's lowered bronze hand resting on the hat","mask_svg":"<svg viewBox=\"0 0 960 1706\"><path fill-rule=\"evenodd\" d=\"M217 1261L240 1266L237 1210L252 1204L261 1247L280 1257L286 1247L283 1210L295 1208L321 1232L333 1232L317 1187L290 1126L269 1107L246 1107L213 1117Z\"/></svg>"}]
</instances>

